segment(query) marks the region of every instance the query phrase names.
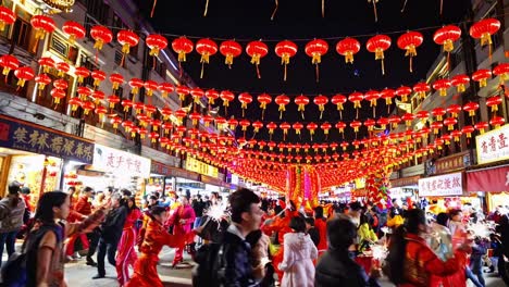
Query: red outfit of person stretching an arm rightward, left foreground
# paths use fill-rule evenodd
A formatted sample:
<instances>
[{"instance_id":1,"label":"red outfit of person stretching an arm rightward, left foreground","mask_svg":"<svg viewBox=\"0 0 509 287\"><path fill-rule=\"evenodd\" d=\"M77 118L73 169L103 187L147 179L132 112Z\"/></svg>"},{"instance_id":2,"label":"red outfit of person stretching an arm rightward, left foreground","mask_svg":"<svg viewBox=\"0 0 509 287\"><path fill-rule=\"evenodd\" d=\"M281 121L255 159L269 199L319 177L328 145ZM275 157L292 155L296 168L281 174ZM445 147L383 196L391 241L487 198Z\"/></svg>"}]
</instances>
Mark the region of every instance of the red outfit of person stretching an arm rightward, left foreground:
<instances>
[{"instance_id":1,"label":"red outfit of person stretching an arm rightward, left foreground","mask_svg":"<svg viewBox=\"0 0 509 287\"><path fill-rule=\"evenodd\" d=\"M166 232L166 228L154 220L150 220L145 239L139 248L140 255L134 266L134 275L125 285L126 287L162 287L163 284L158 275L159 253L163 246L183 248L186 241L193 240L195 233L185 236L175 236Z\"/></svg>"}]
</instances>

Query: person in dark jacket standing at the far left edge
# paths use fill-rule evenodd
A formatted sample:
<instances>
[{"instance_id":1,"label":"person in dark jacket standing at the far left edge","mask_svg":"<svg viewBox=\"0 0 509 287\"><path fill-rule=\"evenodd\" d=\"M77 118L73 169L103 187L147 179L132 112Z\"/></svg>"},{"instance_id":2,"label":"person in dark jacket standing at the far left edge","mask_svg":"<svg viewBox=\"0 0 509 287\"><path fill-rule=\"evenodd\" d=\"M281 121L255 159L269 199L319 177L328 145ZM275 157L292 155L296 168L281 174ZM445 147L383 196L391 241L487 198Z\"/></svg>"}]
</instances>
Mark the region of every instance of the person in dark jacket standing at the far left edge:
<instances>
[{"instance_id":1,"label":"person in dark jacket standing at the far left edge","mask_svg":"<svg viewBox=\"0 0 509 287\"><path fill-rule=\"evenodd\" d=\"M20 198L21 185L13 182L9 185L9 195L0 201L0 266L2 265L3 247L8 255L14 253L16 235L23 226L25 201Z\"/></svg>"}]
</instances>

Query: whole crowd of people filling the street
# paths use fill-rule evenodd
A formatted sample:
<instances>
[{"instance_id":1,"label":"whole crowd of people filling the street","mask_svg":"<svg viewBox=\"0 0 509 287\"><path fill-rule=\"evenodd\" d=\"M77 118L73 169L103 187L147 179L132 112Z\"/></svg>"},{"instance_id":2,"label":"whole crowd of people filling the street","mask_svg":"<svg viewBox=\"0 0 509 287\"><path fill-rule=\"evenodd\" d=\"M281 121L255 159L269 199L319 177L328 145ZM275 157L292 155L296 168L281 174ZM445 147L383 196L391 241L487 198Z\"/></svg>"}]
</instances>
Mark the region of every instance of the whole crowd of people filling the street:
<instances>
[{"instance_id":1,"label":"whole crowd of people filling the street","mask_svg":"<svg viewBox=\"0 0 509 287\"><path fill-rule=\"evenodd\" d=\"M227 200L215 192L153 194L138 208L126 189L76 192L46 192L32 209L26 190L9 186L0 201L0 251L5 246L10 257L5 286L66 286L65 262L79 254L97 269L94 278L107 275L107 259L120 286L163 286L157 265L164 246L175 248L173 267L195 265L195 286L380 286L382 272L397 286L467 286L469 279L485 286L483 273L495 272L509 247L504 209L486 217L472 209L433 214L398 201L321 202L311 210L249 189ZM16 238L24 238L23 257L15 255ZM183 262L184 251L196 264Z\"/></svg>"}]
</instances>

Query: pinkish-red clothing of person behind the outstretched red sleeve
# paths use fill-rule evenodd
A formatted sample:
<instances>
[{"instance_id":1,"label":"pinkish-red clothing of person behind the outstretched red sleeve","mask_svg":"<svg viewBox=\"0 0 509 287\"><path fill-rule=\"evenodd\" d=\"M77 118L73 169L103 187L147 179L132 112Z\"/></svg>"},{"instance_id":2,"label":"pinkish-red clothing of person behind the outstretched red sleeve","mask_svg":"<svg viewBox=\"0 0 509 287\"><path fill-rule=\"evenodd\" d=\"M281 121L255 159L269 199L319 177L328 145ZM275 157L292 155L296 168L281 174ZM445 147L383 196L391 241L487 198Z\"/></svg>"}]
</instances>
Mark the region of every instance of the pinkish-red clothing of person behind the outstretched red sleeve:
<instances>
[{"instance_id":1,"label":"pinkish-red clothing of person behind the outstretched red sleeve","mask_svg":"<svg viewBox=\"0 0 509 287\"><path fill-rule=\"evenodd\" d=\"M193 224L195 223L196 214L195 210L189 204L179 205L175 212L172 213L167 220L165 226L173 225L173 235L184 236L188 234ZM175 258L173 259L173 265L181 263L184 260L183 257L184 247L175 250Z\"/></svg>"}]
</instances>

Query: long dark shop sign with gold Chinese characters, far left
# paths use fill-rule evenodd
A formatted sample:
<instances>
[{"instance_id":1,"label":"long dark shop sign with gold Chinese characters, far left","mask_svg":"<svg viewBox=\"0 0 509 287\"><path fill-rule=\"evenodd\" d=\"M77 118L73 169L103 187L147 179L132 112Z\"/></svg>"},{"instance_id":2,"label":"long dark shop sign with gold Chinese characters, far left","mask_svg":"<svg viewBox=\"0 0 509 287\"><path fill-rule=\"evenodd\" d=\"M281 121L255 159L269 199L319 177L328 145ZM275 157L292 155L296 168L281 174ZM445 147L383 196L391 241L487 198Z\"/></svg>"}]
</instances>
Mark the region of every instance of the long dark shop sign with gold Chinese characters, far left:
<instances>
[{"instance_id":1,"label":"long dark shop sign with gold Chinese characters, far left","mask_svg":"<svg viewBox=\"0 0 509 287\"><path fill-rule=\"evenodd\" d=\"M90 164L94 144L0 116L0 146Z\"/></svg>"}]
</instances>

